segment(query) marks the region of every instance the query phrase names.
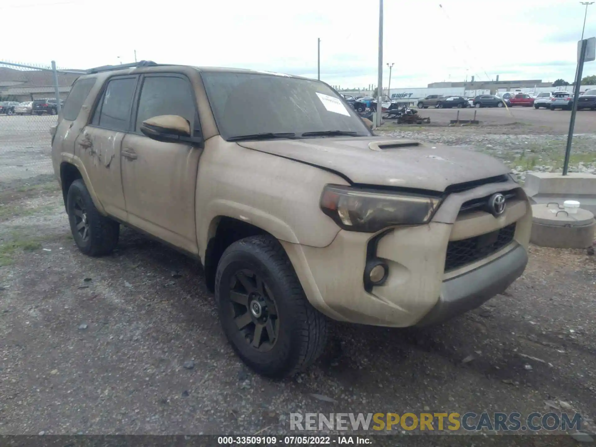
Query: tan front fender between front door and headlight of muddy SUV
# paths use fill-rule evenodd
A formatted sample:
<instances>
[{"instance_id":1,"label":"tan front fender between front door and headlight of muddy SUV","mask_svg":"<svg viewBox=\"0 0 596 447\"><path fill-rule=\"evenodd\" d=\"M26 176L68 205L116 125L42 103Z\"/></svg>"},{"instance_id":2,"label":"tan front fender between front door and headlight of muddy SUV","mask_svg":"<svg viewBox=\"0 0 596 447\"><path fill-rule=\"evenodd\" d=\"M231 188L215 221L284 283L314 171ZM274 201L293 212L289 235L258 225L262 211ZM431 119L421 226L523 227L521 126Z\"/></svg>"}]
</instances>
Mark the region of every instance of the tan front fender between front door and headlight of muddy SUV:
<instances>
[{"instance_id":1,"label":"tan front fender between front door and headlight of muddy SUV","mask_svg":"<svg viewBox=\"0 0 596 447\"><path fill-rule=\"evenodd\" d=\"M219 135L205 142L195 199L201 259L219 216L248 222L289 243L328 246L339 227L319 208L321 193L326 184L347 182L324 169L241 144Z\"/></svg>"}]
</instances>

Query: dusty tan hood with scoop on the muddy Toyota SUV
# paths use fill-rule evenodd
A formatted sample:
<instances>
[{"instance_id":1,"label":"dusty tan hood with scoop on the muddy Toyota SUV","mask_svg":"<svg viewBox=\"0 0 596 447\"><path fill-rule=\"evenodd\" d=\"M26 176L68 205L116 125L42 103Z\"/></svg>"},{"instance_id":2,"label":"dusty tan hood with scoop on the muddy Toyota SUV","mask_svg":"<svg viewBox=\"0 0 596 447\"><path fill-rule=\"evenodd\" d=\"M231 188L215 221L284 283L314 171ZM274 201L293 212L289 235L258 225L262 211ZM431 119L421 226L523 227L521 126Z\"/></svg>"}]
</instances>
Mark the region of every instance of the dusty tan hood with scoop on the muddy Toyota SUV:
<instances>
[{"instance_id":1,"label":"dusty tan hood with scoop on the muddy Toyota SUV","mask_svg":"<svg viewBox=\"0 0 596 447\"><path fill-rule=\"evenodd\" d=\"M449 185L510 172L504 164L485 154L378 136L243 141L238 144L342 173L357 184L442 192Z\"/></svg>"}]
</instances>

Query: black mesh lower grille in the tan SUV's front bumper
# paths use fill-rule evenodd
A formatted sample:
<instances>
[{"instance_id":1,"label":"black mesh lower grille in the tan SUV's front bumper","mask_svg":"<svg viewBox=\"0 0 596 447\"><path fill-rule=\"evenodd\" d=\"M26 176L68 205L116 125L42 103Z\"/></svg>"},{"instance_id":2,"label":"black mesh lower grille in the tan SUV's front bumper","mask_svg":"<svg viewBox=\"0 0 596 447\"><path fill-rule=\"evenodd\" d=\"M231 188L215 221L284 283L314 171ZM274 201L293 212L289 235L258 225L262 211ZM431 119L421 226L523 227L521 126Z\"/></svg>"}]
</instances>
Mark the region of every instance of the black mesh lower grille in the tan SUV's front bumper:
<instances>
[{"instance_id":1,"label":"black mesh lower grille in the tan SUV's front bumper","mask_svg":"<svg viewBox=\"0 0 596 447\"><path fill-rule=\"evenodd\" d=\"M498 252L513 241L515 232L516 224L510 224L490 233L449 242L445 258L445 272Z\"/></svg>"}]
</instances>

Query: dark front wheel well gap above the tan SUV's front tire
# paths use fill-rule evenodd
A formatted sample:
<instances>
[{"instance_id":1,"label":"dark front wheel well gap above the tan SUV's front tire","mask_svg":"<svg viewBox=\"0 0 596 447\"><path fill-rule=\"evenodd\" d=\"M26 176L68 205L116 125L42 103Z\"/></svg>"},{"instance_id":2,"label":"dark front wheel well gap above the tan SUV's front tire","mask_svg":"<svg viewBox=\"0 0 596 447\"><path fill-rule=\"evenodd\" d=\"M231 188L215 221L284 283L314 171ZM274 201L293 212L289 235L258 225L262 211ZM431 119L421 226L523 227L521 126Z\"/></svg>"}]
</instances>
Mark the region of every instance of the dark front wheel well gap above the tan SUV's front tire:
<instances>
[{"instance_id":1,"label":"dark front wheel well gap above the tan SUV's front tire","mask_svg":"<svg viewBox=\"0 0 596 447\"><path fill-rule=\"evenodd\" d=\"M219 259L221 259L225 249L231 246L235 241L239 241L245 237L261 234L271 235L269 232L258 226L228 216L219 216L216 218L215 225L215 235L213 235L207 243L203 266L205 272L205 284L207 285L207 289L212 292L215 291L215 274L218 269Z\"/></svg>"}]
</instances>

